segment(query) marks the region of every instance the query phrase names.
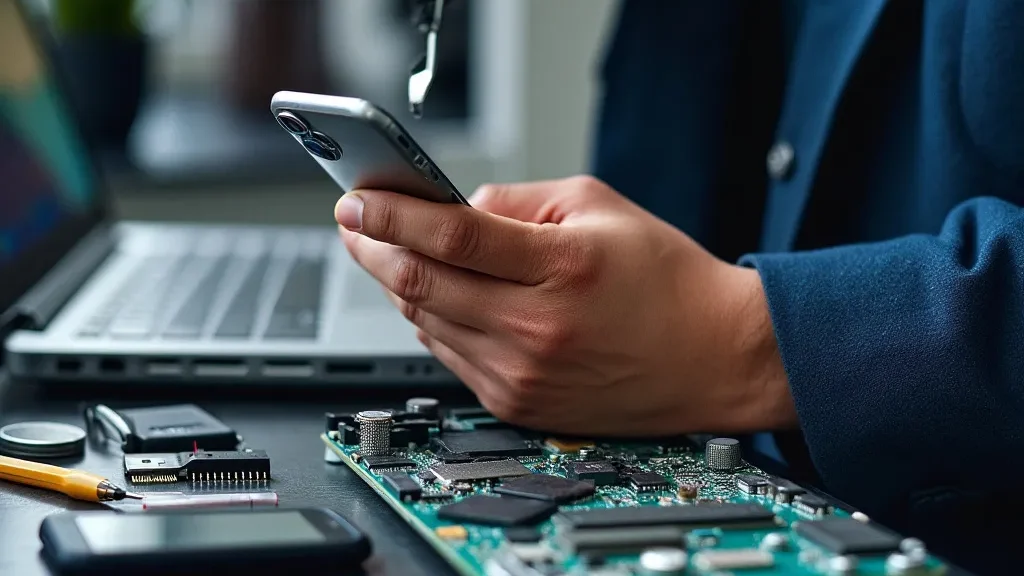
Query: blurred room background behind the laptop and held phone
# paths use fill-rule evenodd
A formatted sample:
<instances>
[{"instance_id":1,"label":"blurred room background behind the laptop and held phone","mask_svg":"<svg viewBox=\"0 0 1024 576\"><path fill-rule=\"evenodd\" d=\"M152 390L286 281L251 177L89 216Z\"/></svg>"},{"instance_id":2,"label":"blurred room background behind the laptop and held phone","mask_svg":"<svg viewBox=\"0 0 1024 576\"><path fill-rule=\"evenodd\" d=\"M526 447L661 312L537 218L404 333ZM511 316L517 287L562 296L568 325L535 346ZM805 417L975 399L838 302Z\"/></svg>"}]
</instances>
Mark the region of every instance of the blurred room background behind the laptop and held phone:
<instances>
[{"instance_id":1,"label":"blurred room background behind the laptop and held phone","mask_svg":"<svg viewBox=\"0 0 1024 576\"><path fill-rule=\"evenodd\" d=\"M468 194L585 171L615 0L447 0L424 118L410 0L33 0L127 219L331 223L278 90L384 107Z\"/></svg>"}]
</instances>

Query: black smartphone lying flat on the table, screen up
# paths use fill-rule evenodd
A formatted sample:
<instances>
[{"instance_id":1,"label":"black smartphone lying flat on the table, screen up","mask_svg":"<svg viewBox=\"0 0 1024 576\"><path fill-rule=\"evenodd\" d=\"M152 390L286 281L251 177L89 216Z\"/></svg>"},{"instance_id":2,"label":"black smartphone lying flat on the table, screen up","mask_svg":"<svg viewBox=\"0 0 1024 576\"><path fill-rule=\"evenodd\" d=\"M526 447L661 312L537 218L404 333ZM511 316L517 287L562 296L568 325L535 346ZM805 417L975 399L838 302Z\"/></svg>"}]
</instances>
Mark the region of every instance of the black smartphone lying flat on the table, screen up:
<instances>
[{"instance_id":1,"label":"black smartphone lying flat on the table, screen up","mask_svg":"<svg viewBox=\"0 0 1024 576\"><path fill-rule=\"evenodd\" d=\"M306 574L354 570L367 537L327 508L70 512L47 517L43 556L57 574Z\"/></svg>"}]
</instances>

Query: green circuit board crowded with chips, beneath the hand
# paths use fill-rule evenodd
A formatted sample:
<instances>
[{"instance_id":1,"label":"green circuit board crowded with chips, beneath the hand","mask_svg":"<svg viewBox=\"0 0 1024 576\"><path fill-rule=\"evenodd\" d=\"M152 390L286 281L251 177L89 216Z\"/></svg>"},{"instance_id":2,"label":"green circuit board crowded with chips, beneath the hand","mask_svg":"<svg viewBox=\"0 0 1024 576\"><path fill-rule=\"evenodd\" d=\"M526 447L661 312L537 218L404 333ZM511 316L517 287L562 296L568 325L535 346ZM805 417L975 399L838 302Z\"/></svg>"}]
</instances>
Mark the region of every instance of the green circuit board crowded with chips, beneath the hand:
<instances>
[{"instance_id":1,"label":"green circuit board crowded with chips, beneath the hand","mask_svg":"<svg viewBox=\"0 0 1024 576\"><path fill-rule=\"evenodd\" d=\"M482 409L362 414L328 414L327 459L463 576L946 572L923 542L746 463L732 439L550 438Z\"/></svg>"}]
</instances>

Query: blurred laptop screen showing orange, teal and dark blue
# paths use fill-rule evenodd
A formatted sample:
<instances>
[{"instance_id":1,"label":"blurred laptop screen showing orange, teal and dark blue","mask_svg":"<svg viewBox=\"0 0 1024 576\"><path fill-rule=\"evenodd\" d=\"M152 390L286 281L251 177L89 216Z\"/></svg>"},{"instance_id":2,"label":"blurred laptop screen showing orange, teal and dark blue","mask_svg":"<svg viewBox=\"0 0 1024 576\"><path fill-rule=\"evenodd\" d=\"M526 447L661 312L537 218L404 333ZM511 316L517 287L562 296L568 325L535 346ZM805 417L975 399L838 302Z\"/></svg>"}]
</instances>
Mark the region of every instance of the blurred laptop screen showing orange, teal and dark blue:
<instances>
[{"instance_id":1,"label":"blurred laptop screen showing orange, teal and dark blue","mask_svg":"<svg viewBox=\"0 0 1024 576\"><path fill-rule=\"evenodd\" d=\"M96 213L97 182L77 130L26 13L0 0L0 312Z\"/></svg>"}]
</instances>

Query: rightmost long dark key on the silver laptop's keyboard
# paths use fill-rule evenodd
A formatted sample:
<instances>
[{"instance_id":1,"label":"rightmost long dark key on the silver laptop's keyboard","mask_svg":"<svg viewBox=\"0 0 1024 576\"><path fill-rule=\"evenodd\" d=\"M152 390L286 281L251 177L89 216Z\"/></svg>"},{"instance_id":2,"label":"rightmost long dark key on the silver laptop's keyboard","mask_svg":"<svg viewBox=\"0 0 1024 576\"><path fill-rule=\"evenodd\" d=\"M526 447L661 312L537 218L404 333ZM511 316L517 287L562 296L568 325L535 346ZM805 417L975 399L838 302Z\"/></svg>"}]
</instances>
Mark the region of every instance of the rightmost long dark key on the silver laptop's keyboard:
<instances>
[{"instance_id":1,"label":"rightmost long dark key on the silver laptop's keyboard","mask_svg":"<svg viewBox=\"0 0 1024 576\"><path fill-rule=\"evenodd\" d=\"M299 258L270 313L264 338L316 338L324 260Z\"/></svg>"}]
</instances>

